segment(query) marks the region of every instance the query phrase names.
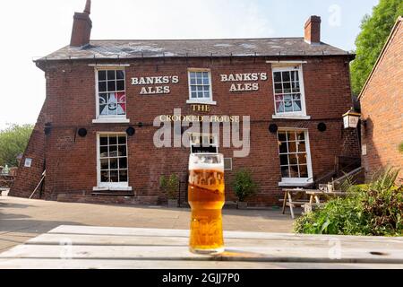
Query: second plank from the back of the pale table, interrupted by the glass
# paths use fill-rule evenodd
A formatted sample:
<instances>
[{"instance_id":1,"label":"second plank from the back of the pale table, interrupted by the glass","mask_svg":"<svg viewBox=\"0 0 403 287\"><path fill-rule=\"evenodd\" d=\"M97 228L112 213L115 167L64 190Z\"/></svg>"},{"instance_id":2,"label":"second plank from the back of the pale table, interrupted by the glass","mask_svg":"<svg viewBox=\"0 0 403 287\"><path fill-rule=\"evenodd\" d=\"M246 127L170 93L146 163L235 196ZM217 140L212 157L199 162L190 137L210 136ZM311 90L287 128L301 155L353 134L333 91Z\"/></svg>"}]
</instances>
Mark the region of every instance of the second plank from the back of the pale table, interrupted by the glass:
<instances>
[{"instance_id":1,"label":"second plank from the back of the pale table, interrupted by the glass","mask_svg":"<svg viewBox=\"0 0 403 287\"><path fill-rule=\"evenodd\" d=\"M82 235L82 234L55 234L47 233L28 240L25 244L30 245L61 245L68 242L72 245L92 246L184 246L188 245L189 239L184 237L147 237L147 236L115 236L115 235ZM287 239L225 239L228 248L234 247L264 247L283 246L304 248L306 243L301 240ZM337 241L314 240L310 242L312 247L330 248ZM341 248L363 248L363 242L345 241L339 242ZM402 248L403 242L366 242L365 248Z\"/></svg>"}]
</instances>

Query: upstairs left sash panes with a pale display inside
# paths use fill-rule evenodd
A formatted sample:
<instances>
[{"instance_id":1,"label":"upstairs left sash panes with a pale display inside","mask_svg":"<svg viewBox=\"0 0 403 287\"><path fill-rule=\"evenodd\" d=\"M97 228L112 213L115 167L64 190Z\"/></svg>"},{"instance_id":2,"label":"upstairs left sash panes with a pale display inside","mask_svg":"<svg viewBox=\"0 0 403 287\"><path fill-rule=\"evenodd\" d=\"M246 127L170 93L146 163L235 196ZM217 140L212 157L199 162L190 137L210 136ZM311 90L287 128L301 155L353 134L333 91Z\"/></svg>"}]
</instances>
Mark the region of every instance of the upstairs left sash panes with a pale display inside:
<instances>
[{"instance_id":1,"label":"upstairs left sash panes with a pale display inside","mask_svg":"<svg viewBox=\"0 0 403 287\"><path fill-rule=\"evenodd\" d=\"M97 71L99 117L125 117L124 70Z\"/></svg>"}]
</instances>

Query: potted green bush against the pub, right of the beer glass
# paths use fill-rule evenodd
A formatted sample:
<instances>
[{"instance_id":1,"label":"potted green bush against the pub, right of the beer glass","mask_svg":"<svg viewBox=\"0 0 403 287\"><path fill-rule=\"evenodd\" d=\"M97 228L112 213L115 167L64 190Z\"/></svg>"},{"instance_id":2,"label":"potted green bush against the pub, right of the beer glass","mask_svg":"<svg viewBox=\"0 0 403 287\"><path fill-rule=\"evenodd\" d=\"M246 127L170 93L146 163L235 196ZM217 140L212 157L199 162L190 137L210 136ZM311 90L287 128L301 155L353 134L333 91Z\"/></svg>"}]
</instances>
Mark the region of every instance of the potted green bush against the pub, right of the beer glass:
<instances>
[{"instance_id":1,"label":"potted green bush against the pub, right of the beer glass","mask_svg":"<svg viewBox=\"0 0 403 287\"><path fill-rule=\"evenodd\" d=\"M256 193L257 185L253 181L251 170L239 170L236 172L232 182L234 192L238 197L237 208L246 209L247 203L244 201L247 197Z\"/></svg>"}]
</instances>

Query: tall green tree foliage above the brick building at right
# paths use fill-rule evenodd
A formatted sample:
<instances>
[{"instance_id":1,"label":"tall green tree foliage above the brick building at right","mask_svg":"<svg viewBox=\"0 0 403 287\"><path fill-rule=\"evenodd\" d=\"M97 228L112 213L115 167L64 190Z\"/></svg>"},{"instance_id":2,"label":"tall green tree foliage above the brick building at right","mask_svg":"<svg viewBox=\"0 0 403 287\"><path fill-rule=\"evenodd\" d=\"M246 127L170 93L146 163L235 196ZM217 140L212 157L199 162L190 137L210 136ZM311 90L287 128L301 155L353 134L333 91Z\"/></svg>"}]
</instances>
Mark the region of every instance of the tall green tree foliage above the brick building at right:
<instances>
[{"instance_id":1,"label":"tall green tree foliage above the brick building at right","mask_svg":"<svg viewBox=\"0 0 403 287\"><path fill-rule=\"evenodd\" d=\"M364 16L356 38L356 60L351 65L351 82L356 95L364 87L399 15L403 15L401 0L380 0L373 7L373 14Z\"/></svg>"}]
</instances>

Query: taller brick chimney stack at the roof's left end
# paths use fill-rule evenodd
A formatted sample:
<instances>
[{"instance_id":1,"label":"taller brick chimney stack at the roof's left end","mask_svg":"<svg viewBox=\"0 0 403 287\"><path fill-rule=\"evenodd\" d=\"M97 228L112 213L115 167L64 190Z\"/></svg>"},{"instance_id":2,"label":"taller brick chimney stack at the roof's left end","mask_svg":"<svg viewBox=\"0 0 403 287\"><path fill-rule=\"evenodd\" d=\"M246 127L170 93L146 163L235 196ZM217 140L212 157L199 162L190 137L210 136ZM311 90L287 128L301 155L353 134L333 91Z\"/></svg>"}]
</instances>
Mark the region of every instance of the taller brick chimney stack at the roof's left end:
<instances>
[{"instance_id":1,"label":"taller brick chimney stack at the roof's left end","mask_svg":"<svg viewBox=\"0 0 403 287\"><path fill-rule=\"evenodd\" d=\"M82 47L90 44L92 22L90 19L91 0L87 0L83 13L74 13L70 46Z\"/></svg>"}]
</instances>

